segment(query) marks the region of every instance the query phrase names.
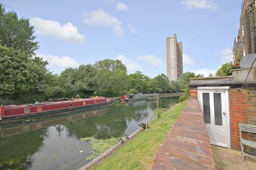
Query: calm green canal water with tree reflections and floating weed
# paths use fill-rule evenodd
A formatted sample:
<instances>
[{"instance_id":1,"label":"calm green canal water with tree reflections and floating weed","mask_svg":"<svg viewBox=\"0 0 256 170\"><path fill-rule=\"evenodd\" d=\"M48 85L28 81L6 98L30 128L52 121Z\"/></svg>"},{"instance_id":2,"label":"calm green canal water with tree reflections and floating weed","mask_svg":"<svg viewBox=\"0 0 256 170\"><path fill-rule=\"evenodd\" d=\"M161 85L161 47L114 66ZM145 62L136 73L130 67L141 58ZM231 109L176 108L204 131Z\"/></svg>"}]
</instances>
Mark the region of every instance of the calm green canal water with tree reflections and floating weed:
<instances>
[{"instance_id":1,"label":"calm green canal water with tree reflections and floating weed","mask_svg":"<svg viewBox=\"0 0 256 170\"><path fill-rule=\"evenodd\" d=\"M170 108L178 97L159 99ZM78 169L150 121L155 100L0 125L0 169Z\"/></svg>"}]
</instances>

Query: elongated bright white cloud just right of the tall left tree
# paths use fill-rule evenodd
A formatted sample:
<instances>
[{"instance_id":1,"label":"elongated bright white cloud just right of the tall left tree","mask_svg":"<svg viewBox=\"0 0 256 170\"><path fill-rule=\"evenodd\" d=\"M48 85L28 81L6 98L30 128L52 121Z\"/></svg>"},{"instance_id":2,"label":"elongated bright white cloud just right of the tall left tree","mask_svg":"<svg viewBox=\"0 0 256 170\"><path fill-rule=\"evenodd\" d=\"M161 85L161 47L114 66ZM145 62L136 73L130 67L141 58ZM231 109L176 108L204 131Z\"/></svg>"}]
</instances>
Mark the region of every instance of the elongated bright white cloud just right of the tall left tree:
<instances>
[{"instance_id":1,"label":"elongated bright white cloud just right of the tall left tree","mask_svg":"<svg viewBox=\"0 0 256 170\"><path fill-rule=\"evenodd\" d=\"M39 34L63 39L70 43L83 43L85 41L84 36L70 22L61 25L57 21L44 20L38 17L31 18L29 22L34 25Z\"/></svg>"}]
</instances>

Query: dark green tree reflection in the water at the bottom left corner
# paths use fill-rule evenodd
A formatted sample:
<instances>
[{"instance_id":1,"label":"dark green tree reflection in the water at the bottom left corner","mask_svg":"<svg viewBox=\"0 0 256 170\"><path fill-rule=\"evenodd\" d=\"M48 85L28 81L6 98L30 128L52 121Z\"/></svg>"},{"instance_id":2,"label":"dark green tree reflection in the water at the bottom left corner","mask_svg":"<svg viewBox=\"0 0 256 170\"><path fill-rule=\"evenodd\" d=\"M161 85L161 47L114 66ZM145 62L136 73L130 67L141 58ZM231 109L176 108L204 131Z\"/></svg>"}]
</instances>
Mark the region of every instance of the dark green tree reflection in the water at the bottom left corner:
<instances>
[{"instance_id":1,"label":"dark green tree reflection in the water at the bottom left corner","mask_svg":"<svg viewBox=\"0 0 256 170\"><path fill-rule=\"evenodd\" d=\"M0 167L7 165L10 167L4 169L13 169L13 167L28 169L31 167L33 160L30 159L30 156L34 155L43 145L47 133L47 128L44 128L1 138Z\"/></svg>"}]
</instances>

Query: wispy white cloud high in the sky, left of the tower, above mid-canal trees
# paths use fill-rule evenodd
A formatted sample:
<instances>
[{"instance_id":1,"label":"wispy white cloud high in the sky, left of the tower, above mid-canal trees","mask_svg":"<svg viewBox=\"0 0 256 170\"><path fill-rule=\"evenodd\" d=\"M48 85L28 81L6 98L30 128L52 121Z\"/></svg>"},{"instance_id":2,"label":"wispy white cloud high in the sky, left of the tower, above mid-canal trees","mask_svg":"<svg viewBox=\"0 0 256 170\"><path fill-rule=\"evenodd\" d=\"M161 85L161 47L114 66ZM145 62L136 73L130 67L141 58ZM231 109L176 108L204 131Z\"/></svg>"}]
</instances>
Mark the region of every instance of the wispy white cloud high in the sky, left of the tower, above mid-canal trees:
<instances>
[{"instance_id":1,"label":"wispy white cloud high in the sky, left of the tower, above mid-canal trees","mask_svg":"<svg viewBox=\"0 0 256 170\"><path fill-rule=\"evenodd\" d=\"M84 14L84 22L88 25L112 28L113 32L118 36L122 36L124 33L122 22L102 9L86 12Z\"/></svg>"}]
</instances>

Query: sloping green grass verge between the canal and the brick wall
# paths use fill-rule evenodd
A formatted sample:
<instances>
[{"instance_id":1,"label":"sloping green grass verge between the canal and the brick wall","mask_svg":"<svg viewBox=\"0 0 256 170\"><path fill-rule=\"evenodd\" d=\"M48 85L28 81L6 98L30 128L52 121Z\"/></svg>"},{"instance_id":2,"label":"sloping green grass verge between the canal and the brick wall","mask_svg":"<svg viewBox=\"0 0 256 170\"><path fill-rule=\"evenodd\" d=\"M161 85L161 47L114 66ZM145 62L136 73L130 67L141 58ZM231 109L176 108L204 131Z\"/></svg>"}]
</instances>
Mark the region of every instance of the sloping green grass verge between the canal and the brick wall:
<instances>
[{"instance_id":1,"label":"sloping green grass verge between the canal and the brick wall","mask_svg":"<svg viewBox=\"0 0 256 170\"><path fill-rule=\"evenodd\" d=\"M171 125L175 123L186 103L187 100L164 112L160 118L150 123L150 129L139 133L135 139L128 141L93 169L151 169L159 145L167 138Z\"/></svg>"}]
</instances>

